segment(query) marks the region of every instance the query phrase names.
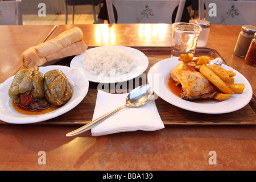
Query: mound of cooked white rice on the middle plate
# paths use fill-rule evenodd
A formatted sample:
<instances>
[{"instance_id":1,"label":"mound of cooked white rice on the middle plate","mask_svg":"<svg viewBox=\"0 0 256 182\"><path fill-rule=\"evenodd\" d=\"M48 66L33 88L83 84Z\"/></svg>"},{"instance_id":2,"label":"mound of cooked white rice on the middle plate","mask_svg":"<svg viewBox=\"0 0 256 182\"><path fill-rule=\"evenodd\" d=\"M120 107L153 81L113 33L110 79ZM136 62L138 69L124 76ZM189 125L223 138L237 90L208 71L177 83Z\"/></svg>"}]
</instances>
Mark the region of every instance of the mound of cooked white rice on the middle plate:
<instances>
[{"instance_id":1,"label":"mound of cooked white rice on the middle plate","mask_svg":"<svg viewBox=\"0 0 256 182\"><path fill-rule=\"evenodd\" d=\"M80 61L86 71L98 76L124 75L137 65L136 57L112 46L88 49Z\"/></svg>"}]
</instances>

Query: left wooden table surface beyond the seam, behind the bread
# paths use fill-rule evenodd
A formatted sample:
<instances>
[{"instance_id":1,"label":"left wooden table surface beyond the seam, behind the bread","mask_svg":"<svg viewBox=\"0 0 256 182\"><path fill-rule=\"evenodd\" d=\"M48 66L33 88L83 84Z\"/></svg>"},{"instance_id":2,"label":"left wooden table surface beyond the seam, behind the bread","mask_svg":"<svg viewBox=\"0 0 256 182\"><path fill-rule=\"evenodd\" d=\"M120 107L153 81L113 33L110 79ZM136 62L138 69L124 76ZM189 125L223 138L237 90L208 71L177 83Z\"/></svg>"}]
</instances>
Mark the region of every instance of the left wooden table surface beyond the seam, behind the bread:
<instances>
[{"instance_id":1,"label":"left wooden table surface beyond the seam, behind the bread","mask_svg":"<svg viewBox=\"0 0 256 182\"><path fill-rule=\"evenodd\" d=\"M56 28L50 26L0 26L0 83L14 75L21 67L24 50L44 42Z\"/></svg>"}]
</instances>

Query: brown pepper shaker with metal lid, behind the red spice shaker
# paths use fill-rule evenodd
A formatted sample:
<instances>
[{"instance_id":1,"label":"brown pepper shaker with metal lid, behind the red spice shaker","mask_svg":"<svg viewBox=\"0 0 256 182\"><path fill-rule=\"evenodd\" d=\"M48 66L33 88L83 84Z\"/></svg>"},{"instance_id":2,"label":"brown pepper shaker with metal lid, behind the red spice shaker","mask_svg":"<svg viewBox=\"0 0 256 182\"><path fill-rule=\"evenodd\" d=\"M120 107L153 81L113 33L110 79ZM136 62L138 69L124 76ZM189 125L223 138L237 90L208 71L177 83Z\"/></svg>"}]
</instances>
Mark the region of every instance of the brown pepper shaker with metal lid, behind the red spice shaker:
<instances>
[{"instance_id":1,"label":"brown pepper shaker with metal lid, behind the red spice shaker","mask_svg":"<svg viewBox=\"0 0 256 182\"><path fill-rule=\"evenodd\" d=\"M256 32L256 26L244 25L237 38L237 43L234 48L234 53L237 56L245 57L250 46L253 34Z\"/></svg>"}]
</instances>

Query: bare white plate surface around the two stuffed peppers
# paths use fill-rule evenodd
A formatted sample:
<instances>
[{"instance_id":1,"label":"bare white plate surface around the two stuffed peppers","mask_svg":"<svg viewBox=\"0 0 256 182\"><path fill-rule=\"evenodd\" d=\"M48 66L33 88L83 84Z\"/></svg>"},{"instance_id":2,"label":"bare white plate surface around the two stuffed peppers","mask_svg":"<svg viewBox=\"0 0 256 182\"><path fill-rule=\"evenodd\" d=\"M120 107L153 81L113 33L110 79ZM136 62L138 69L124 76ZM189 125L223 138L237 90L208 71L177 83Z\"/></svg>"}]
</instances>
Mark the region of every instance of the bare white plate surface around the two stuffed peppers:
<instances>
[{"instance_id":1,"label":"bare white plate surface around the two stuffed peppers","mask_svg":"<svg viewBox=\"0 0 256 182\"><path fill-rule=\"evenodd\" d=\"M73 96L71 97L71 100L67 102L67 104L46 114L25 115L18 113L18 111L13 108L13 100L8 95L8 90L14 78L14 76L12 76L0 84L0 120L15 124L36 123L55 118L61 114L67 113L67 111L77 106L84 99L89 88L89 81L84 73L76 69L59 65L39 67L39 71L42 72L43 75L52 69L59 69L62 71L67 76L69 84L72 86Z\"/></svg>"}]
</instances>

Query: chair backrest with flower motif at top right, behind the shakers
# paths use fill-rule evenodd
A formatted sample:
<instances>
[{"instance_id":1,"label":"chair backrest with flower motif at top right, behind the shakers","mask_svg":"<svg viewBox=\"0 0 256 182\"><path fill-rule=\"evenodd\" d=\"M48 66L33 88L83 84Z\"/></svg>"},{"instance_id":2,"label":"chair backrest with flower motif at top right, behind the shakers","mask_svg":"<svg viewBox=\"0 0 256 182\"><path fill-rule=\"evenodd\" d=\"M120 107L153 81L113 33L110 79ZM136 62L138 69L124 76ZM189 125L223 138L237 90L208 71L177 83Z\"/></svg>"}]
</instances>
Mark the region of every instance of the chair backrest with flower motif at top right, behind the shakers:
<instances>
[{"instance_id":1,"label":"chair backrest with flower motif at top right, behind the shakers","mask_svg":"<svg viewBox=\"0 0 256 182\"><path fill-rule=\"evenodd\" d=\"M211 24L256 25L256 1L199 0L199 18Z\"/></svg>"}]
</instances>

